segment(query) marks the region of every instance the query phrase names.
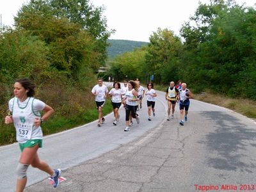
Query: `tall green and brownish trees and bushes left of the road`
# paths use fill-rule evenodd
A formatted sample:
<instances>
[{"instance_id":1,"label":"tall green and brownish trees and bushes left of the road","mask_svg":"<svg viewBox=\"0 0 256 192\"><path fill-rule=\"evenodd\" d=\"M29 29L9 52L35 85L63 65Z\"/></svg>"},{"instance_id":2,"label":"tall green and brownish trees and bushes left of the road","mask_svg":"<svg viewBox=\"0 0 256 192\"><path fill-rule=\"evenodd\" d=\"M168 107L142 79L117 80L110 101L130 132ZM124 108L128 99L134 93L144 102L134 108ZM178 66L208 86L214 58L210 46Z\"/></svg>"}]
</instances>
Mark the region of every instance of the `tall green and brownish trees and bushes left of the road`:
<instances>
[{"instance_id":1,"label":"tall green and brownish trees and bushes left of the road","mask_svg":"<svg viewBox=\"0 0 256 192\"><path fill-rule=\"evenodd\" d=\"M111 33L102 11L76 0L31 0L20 8L15 29L0 34L0 116L6 116L15 79L29 77L35 97L54 108L50 132L92 120L84 115L95 109L91 89ZM15 141L3 118L0 127L0 145Z\"/></svg>"}]
</instances>

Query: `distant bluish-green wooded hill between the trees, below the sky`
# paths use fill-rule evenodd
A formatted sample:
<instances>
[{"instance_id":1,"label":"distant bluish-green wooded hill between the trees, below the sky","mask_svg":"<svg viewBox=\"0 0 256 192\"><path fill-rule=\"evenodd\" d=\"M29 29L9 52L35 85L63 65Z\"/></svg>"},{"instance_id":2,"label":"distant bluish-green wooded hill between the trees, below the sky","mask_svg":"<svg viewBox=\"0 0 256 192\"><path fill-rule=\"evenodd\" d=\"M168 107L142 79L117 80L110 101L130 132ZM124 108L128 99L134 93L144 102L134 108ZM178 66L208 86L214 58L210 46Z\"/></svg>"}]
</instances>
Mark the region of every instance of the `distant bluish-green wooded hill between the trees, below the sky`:
<instances>
[{"instance_id":1,"label":"distant bluish-green wooded hill between the trees, below the sky","mask_svg":"<svg viewBox=\"0 0 256 192\"><path fill-rule=\"evenodd\" d=\"M147 42L136 42L132 40L108 40L108 56L109 58L114 58L118 54L122 54L127 51L133 51L136 48L140 48L144 45L147 45Z\"/></svg>"}]
</instances>

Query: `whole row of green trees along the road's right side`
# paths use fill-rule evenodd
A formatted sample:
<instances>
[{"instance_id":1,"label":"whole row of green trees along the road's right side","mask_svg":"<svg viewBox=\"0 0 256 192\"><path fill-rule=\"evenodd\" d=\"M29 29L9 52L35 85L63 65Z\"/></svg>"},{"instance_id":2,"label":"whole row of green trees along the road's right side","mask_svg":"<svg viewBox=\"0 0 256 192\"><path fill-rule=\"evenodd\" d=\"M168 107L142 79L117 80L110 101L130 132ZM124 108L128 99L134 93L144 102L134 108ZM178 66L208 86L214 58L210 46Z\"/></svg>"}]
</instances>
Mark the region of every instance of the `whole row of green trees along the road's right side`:
<instances>
[{"instance_id":1,"label":"whole row of green trees along the road's right side","mask_svg":"<svg viewBox=\"0 0 256 192\"><path fill-rule=\"evenodd\" d=\"M136 51L116 56L111 75L147 79L154 74L155 83L182 79L195 92L210 89L229 97L256 99L255 15L255 8L232 0L200 3L180 30L183 42L172 31L159 28L141 49L143 58Z\"/></svg>"}]
</instances>

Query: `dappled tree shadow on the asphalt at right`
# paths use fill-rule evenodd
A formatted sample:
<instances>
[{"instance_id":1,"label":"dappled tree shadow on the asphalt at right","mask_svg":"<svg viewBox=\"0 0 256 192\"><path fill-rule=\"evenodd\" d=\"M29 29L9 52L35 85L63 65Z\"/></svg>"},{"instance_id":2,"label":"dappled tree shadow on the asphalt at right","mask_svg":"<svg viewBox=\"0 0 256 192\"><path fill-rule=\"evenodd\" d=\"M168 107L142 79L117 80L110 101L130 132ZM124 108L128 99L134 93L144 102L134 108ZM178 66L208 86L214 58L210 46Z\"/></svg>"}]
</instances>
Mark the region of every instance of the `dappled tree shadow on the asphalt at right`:
<instances>
[{"instance_id":1,"label":"dappled tree shadow on the asphalt at right","mask_svg":"<svg viewBox=\"0 0 256 192\"><path fill-rule=\"evenodd\" d=\"M216 154L215 157L209 156L209 166L218 170L237 169L252 173L251 169L255 168L254 163L244 162L248 158L246 150L249 147L255 147L256 131L241 124L241 121L227 113L221 111L202 111L200 115L207 118L210 122L214 121L216 130L206 135L205 143L209 154ZM247 148L247 149L246 149Z\"/></svg>"}]
</instances>

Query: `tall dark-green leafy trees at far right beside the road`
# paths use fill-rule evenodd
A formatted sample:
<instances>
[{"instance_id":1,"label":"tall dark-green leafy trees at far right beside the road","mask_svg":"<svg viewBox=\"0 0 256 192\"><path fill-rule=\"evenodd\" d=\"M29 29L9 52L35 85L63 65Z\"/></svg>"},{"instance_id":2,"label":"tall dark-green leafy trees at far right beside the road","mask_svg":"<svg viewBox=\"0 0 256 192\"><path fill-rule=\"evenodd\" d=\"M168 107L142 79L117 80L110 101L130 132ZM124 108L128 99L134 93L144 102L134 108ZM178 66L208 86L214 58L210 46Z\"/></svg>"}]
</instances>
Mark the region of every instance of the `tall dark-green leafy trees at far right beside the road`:
<instances>
[{"instance_id":1,"label":"tall dark-green leafy trees at far right beside the road","mask_svg":"<svg viewBox=\"0 0 256 192\"><path fill-rule=\"evenodd\" d=\"M182 79L198 90L256 99L255 13L234 1L200 4L191 17L196 26L186 23L181 30Z\"/></svg>"}]
</instances>

